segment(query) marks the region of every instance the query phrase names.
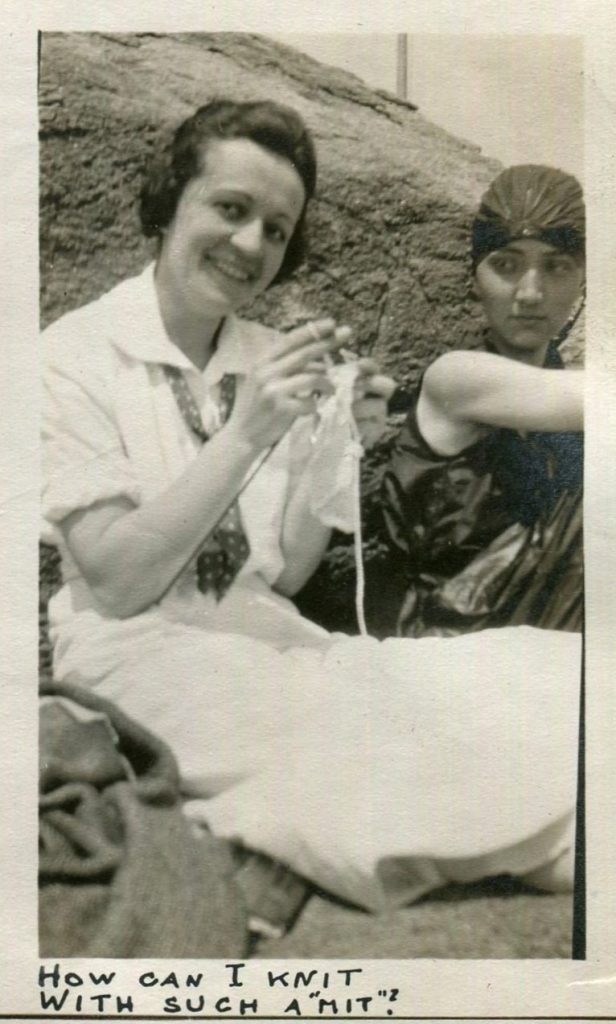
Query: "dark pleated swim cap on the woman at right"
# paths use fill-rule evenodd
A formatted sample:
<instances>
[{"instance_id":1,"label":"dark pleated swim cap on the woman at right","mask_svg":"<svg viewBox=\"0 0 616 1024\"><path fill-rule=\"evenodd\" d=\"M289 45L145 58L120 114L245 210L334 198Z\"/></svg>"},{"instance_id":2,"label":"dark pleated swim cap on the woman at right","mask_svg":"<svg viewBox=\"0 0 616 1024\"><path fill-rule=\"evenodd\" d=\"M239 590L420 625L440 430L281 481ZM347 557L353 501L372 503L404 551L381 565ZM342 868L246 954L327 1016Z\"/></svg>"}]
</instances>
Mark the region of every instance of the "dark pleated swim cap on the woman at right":
<instances>
[{"instance_id":1,"label":"dark pleated swim cap on the woman at right","mask_svg":"<svg viewBox=\"0 0 616 1024\"><path fill-rule=\"evenodd\" d=\"M515 239L537 239L573 256L585 249L584 196L572 174L525 164L492 181L473 222L473 269Z\"/></svg>"}]
</instances>

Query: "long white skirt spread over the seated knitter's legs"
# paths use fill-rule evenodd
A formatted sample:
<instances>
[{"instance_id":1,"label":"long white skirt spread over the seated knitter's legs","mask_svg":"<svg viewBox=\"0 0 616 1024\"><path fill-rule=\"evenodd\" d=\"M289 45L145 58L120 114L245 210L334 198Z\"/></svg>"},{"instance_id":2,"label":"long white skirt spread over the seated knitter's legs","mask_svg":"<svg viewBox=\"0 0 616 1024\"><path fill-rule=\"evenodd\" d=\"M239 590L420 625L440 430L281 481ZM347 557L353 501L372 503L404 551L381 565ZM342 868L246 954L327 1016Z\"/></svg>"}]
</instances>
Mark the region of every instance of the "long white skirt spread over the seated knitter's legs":
<instances>
[{"instance_id":1,"label":"long white skirt spread over the seated knitter's legs","mask_svg":"<svg viewBox=\"0 0 616 1024\"><path fill-rule=\"evenodd\" d=\"M577 634L333 637L239 587L216 631L199 605L80 615L56 678L170 744L193 817L325 890L378 909L572 847Z\"/></svg>"}]
</instances>

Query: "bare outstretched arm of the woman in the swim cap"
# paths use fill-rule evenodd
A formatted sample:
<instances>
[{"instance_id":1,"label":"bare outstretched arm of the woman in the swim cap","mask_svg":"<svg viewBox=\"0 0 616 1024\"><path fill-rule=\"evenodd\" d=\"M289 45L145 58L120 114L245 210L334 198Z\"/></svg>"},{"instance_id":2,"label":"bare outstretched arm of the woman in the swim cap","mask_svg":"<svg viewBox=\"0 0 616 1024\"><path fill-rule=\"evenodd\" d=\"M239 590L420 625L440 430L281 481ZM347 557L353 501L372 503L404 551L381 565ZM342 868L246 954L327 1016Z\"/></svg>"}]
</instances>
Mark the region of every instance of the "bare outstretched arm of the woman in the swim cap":
<instances>
[{"instance_id":1,"label":"bare outstretched arm of the woman in the swim cap","mask_svg":"<svg viewBox=\"0 0 616 1024\"><path fill-rule=\"evenodd\" d=\"M583 429L584 374L529 367L491 352L448 352L426 372L419 415L426 439L455 451L473 428Z\"/></svg>"}]
</instances>

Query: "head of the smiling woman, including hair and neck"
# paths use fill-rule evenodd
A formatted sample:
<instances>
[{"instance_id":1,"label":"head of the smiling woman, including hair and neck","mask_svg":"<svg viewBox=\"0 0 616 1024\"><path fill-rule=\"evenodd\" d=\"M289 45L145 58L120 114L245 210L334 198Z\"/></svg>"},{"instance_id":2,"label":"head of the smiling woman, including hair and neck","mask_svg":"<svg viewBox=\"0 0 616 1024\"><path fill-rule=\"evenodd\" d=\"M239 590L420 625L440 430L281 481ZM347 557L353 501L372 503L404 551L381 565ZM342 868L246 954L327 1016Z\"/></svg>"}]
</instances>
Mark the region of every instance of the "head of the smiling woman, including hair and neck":
<instances>
[{"instance_id":1,"label":"head of the smiling woman, including hair and neck","mask_svg":"<svg viewBox=\"0 0 616 1024\"><path fill-rule=\"evenodd\" d=\"M315 183L310 136L273 103L200 108L150 168L140 215L159 243L159 303L170 338L196 366L221 317L302 261Z\"/></svg>"}]
</instances>

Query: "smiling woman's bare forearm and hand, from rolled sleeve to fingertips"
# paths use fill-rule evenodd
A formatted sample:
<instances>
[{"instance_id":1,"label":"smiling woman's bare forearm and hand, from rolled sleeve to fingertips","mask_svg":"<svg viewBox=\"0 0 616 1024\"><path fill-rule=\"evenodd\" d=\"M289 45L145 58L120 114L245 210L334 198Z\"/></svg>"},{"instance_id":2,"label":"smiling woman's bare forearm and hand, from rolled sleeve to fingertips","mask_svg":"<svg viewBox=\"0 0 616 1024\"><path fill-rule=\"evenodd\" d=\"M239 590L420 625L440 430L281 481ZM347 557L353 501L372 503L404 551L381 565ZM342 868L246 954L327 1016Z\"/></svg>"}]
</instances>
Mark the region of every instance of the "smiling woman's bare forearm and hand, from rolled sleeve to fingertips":
<instances>
[{"instance_id":1,"label":"smiling woman's bare forearm and hand, from rolled sleeve to fingertips","mask_svg":"<svg viewBox=\"0 0 616 1024\"><path fill-rule=\"evenodd\" d=\"M62 521L69 550L113 614L128 617L163 596L234 500L259 453L312 409L311 399L298 394L326 386L318 360L346 337L338 339L331 322L321 323L321 334L314 341L299 328L274 346L238 387L229 422L162 495L138 508L126 498L100 502Z\"/></svg>"}]
</instances>

